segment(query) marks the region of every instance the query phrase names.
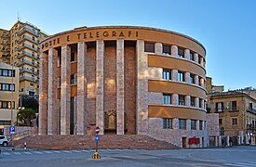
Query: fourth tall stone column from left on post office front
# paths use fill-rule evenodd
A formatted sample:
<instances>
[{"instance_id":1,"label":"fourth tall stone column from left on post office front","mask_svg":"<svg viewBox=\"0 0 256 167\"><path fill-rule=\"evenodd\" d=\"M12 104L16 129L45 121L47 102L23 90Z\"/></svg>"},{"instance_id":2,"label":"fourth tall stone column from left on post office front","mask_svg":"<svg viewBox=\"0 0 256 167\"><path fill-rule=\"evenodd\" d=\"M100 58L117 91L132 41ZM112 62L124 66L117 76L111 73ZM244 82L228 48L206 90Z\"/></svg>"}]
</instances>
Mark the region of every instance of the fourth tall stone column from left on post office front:
<instances>
[{"instance_id":1,"label":"fourth tall stone column from left on post office front","mask_svg":"<svg viewBox=\"0 0 256 167\"><path fill-rule=\"evenodd\" d=\"M86 52L87 45L84 42L78 42L77 46L77 133L76 135L85 135L88 126L87 110L87 77L86 77Z\"/></svg>"}]
</instances>

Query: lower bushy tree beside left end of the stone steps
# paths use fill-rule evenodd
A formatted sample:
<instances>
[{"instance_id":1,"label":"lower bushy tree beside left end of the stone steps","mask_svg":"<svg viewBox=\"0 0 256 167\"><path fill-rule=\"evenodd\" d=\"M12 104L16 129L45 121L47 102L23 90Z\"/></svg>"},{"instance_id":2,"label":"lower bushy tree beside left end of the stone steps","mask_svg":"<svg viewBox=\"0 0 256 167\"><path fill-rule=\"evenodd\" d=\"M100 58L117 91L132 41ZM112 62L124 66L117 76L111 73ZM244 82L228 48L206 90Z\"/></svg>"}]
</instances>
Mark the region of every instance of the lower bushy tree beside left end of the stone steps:
<instances>
[{"instance_id":1,"label":"lower bushy tree beside left end of the stone steps","mask_svg":"<svg viewBox=\"0 0 256 167\"><path fill-rule=\"evenodd\" d=\"M30 126L32 124L31 120L36 118L34 109L20 109L17 113L17 119L19 125L21 126Z\"/></svg>"}]
</instances>

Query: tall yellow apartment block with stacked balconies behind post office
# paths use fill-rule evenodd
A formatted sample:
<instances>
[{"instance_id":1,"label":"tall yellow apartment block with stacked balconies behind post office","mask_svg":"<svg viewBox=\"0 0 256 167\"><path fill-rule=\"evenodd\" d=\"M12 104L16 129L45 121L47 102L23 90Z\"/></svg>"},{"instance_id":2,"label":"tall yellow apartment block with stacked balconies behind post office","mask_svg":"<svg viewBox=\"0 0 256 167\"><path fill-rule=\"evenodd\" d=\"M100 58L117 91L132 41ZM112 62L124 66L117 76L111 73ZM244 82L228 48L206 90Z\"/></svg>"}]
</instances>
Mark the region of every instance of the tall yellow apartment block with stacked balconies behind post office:
<instances>
[{"instance_id":1,"label":"tall yellow apartment block with stacked balconies behind post office","mask_svg":"<svg viewBox=\"0 0 256 167\"><path fill-rule=\"evenodd\" d=\"M20 69L20 94L38 95L39 42L47 34L29 22L16 22L9 31L0 30L0 61Z\"/></svg>"}]
</instances>

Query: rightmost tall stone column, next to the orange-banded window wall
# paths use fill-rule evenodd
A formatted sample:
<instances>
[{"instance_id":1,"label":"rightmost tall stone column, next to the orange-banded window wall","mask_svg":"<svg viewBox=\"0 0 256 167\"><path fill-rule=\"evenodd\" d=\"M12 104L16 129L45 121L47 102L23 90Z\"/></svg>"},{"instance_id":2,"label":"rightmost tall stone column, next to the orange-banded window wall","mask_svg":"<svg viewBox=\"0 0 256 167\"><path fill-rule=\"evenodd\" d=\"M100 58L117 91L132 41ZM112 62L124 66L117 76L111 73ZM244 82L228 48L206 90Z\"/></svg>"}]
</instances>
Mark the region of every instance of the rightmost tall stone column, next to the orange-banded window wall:
<instances>
[{"instance_id":1,"label":"rightmost tall stone column, next to the orange-banded window wall","mask_svg":"<svg viewBox=\"0 0 256 167\"><path fill-rule=\"evenodd\" d=\"M146 135L148 133L148 76L147 60L144 53L144 41L137 40L137 109L136 125L137 135Z\"/></svg>"}]
</instances>

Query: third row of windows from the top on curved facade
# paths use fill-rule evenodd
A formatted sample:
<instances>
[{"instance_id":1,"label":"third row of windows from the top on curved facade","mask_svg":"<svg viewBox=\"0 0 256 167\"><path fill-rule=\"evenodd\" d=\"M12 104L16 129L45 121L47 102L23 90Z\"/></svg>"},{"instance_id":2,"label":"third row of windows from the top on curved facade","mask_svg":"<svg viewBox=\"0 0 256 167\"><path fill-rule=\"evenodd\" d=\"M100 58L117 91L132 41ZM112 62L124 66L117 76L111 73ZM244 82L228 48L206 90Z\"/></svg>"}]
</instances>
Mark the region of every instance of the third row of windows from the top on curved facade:
<instances>
[{"instance_id":1,"label":"third row of windows from the top on curved facade","mask_svg":"<svg viewBox=\"0 0 256 167\"><path fill-rule=\"evenodd\" d=\"M178 95L178 105L185 106L185 96ZM163 94L163 103L166 105L174 104L171 100L171 94ZM199 98L199 108L205 109L206 101ZM190 107L195 107L195 96L190 96Z\"/></svg>"}]
</instances>

